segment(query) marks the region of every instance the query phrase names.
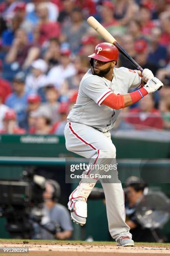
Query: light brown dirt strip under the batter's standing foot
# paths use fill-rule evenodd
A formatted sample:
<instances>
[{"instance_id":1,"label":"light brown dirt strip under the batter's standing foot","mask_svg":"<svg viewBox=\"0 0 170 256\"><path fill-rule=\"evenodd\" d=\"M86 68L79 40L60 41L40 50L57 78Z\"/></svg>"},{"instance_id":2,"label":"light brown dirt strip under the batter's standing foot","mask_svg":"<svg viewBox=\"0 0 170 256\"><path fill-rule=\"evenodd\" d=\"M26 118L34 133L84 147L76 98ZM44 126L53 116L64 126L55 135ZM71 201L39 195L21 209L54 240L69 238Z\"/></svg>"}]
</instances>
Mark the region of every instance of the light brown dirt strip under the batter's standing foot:
<instances>
[{"instance_id":1,"label":"light brown dirt strip under the batter's standing foot","mask_svg":"<svg viewBox=\"0 0 170 256\"><path fill-rule=\"evenodd\" d=\"M134 247L116 246L115 243L83 243L83 242L30 242L30 241L0 241L0 247L27 247L31 255L57 256L170 256L170 246L136 245ZM18 253L27 255L27 253ZM13 255L18 255L13 253ZM0 253L5 255L5 253Z\"/></svg>"}]
</instances>

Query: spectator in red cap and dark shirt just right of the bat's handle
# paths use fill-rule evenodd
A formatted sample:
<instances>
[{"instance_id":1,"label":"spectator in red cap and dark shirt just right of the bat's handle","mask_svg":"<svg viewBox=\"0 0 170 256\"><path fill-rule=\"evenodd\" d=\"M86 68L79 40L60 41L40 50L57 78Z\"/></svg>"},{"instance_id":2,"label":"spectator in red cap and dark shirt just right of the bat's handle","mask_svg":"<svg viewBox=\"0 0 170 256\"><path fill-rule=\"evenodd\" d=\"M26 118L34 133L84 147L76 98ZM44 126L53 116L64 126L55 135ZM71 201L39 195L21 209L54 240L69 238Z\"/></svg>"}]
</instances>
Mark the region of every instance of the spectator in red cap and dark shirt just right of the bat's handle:
<instances>
[{"instance_id":1,"label":"spectator in red cap and dark shirt just right of the bat's handle","mask_svg":"<svg viewBox=\"0 0 170 256\"><path fill-rule=\"evenodd\" d=\"M145 40L137 40L134 45L136 56L135 61L143 67L143 69L150 69L152 70L154 76L159 69L158 64L154 64L152 62L148 61L148 54L149 54L149 48L148 44Z\"/></svg>"}]
</instances>

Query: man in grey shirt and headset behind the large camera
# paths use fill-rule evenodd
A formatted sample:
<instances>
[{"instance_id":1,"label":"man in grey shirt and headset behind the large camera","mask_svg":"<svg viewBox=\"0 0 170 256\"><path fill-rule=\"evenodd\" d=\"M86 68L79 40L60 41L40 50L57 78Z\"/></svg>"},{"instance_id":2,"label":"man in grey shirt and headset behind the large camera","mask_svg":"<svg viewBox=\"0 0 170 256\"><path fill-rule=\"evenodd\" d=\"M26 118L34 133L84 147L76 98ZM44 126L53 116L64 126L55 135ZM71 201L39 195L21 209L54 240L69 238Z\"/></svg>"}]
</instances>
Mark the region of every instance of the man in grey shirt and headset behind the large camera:
<instances>
[{"instance_id":1,"label":"man in grey shirt and headset behind the large camera","mask_svg":"<svg viewBox=\"0 0 170 256\"><path fill-rule=\"evenodd\" d=\"M70 216L65 206L60 205L57 201L60 197L60 185L51 179L45 182L45 191L43 192L44 204L42 208L41 225L53 231L55 235L34 223L35 235L32 239L45 240L65 240L72 235L72 224Z\"/></svg>"}]
</instances>

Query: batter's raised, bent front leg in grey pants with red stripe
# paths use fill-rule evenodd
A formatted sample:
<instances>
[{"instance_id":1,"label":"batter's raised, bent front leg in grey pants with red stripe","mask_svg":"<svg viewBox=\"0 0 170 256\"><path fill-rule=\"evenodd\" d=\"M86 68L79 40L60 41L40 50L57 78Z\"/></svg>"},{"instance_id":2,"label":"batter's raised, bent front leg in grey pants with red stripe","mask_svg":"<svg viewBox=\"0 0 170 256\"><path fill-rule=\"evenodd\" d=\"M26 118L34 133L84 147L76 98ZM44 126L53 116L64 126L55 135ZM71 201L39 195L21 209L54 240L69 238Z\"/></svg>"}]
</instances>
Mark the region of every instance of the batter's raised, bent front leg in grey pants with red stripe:
<instances>
[{"instance_id":1,"label":"batter's raised, bent front leg in grey pants with red stripe","mask_svg":"<svg viewBox=\"0 0 170 256\"><path fill-rule=\"evenodd\" d=\"M96 161L98 163L105 158L112 159L115 156L115 146L112 142L103 133L87 125L68 123L65 127L65 140L69 151L91 158L89 164L94 164ZM76 223L84 225L86 222L86 202L96 182L97 179L90 177L82 179L69 197L68 208Z\"/></svg>"}]
</instances>

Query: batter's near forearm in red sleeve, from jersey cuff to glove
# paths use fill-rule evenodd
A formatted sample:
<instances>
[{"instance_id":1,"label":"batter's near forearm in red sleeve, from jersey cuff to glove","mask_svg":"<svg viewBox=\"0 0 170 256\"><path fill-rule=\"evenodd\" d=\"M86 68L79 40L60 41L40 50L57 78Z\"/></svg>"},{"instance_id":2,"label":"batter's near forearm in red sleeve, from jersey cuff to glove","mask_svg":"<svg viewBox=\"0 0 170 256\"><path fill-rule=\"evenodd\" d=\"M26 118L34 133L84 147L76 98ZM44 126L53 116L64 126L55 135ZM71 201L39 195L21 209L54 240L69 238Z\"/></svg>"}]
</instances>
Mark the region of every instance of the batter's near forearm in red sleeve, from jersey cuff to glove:
<instances>
[{"instance_id":1,"label":"batter's near forearm in red sleeve, from jersey cuff to glove","mask_svg":"<svg viewBox=\"0 0 170 256\"><path fill-rule=\"evenodd\" d=\"M135 92L130 92L124 95L116 95L115 93L112 93L108 95L105 100L103 100L102 104L113 109L126 108L138 102L147 94L148 92L145 90L145 88L141 88Z\"/></svg>"}]
</instances>

